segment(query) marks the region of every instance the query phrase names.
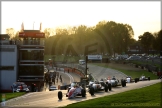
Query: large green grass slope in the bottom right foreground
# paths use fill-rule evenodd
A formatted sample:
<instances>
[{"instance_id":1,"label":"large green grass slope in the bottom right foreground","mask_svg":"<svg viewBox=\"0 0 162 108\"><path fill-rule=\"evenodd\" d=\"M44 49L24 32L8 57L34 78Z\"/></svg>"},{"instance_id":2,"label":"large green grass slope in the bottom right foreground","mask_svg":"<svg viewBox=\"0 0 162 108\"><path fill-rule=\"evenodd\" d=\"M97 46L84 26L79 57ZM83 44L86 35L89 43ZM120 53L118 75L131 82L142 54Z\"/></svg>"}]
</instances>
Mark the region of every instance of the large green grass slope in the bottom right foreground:
<instances>
[{"instance_id":1,"label":"large green grass slope in the bottom right foreground","mask_svg":"<svg viewBox=\"0 0 162 108\"><path fill-rule=\"evenodd\" d=\"M151 107L160 106L161 83L123 93L91 99L67 105L64 108L109 108L109 107ZM117 106L118 105L118 106ZM143 105L143 106L142 106ZM152 106L151 106L152 105Z\"/></svg>"}]
</instances>

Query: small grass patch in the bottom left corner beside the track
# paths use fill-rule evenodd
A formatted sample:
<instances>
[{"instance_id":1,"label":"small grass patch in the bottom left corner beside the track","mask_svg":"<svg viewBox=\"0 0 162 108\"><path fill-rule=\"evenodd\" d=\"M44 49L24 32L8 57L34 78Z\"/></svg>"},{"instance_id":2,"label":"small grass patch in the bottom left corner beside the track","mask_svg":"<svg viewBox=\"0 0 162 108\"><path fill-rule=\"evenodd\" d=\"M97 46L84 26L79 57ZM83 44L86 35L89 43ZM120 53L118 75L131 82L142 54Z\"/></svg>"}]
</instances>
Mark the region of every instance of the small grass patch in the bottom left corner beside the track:
<instances>
[{"instance_id":1,"label":"small grass patch in the bottom left corner beside the track","mask_svg":"<svg viewBox=\"0 0 162 108\"><path fill-rule=\"evenodd\" d=\"M0 102L2 102L3 99L9 100L18 96L22 96L26 94L26 92L15 92L15 93L0 93Z\"/></svg>"}]
</instances>

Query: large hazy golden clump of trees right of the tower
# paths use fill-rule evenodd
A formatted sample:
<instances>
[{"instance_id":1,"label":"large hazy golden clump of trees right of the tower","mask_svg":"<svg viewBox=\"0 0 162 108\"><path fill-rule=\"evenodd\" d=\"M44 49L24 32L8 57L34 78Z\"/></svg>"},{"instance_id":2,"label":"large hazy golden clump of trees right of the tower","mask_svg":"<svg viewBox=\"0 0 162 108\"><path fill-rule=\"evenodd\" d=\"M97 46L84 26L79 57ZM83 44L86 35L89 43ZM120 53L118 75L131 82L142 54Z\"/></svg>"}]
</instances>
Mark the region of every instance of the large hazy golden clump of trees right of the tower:
<instances>
[{"instance_id":1,"label":"large hazy golden clump of trees right of the tower","mask_svg":"<svg viewBox=\"0 0 162 108\"><path fill-rule=\"evenodd\" d=\"M51 32L47 32L47 34L50 35ZM128 46L133 42L133 36L133 29L128 24L100 21L94 27L80 25L68 29L57 28L55 35L52 36L53 38L46 39L48 46L45 46L45 50L47 51L51 47L52 52L48 51L48 53L65 54L67 46L70 46L79 55L120 54L127 51ZM85 50L87 47L88 51Z\"/></svg>"}]
</instances>

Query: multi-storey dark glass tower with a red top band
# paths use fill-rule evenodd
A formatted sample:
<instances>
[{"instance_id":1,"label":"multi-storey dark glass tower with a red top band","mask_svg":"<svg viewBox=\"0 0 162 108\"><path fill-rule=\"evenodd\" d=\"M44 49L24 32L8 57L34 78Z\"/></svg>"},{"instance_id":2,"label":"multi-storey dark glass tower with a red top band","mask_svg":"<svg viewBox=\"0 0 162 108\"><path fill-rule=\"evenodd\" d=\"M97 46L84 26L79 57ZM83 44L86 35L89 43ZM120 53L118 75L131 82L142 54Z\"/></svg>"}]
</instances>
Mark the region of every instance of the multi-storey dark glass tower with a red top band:
<instances>
[{"instance_id":1,"label":"multi-storey dark glass tower with a red top band","mask_svg":"<svg viewBox=\"0 0 162 108\"><path fill-rule=\"evenodd\" d=\"M19 32L18 46L18 81L30 85L35 83L38 89L44 80L44 38L45 33L40 30L22 30Z\"/></svg>"}]
</instances>

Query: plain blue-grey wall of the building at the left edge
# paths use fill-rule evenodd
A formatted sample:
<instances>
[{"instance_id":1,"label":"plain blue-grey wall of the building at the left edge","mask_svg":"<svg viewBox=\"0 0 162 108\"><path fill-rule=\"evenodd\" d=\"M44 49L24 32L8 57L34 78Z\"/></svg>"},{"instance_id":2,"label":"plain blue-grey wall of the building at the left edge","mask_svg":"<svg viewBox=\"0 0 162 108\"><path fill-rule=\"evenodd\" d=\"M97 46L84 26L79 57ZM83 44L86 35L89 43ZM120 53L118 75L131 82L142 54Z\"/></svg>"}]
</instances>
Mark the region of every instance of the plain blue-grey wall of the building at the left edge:
<instances>
[{"instance_id":1,"label":"plain blue-grey wall of the building at the left edge","mask_svg":"<svg viewBox=\"0 0 162 108\"><path fill-rule=\"evenodd\" d=\"M0 89L1 91L8 91L11 90L11 85L17 80L17 45L1 45L0 48L0 66L14 67L13 70L0 70Z\"/></svg>"}]
</instances>

